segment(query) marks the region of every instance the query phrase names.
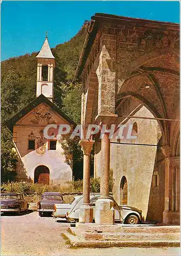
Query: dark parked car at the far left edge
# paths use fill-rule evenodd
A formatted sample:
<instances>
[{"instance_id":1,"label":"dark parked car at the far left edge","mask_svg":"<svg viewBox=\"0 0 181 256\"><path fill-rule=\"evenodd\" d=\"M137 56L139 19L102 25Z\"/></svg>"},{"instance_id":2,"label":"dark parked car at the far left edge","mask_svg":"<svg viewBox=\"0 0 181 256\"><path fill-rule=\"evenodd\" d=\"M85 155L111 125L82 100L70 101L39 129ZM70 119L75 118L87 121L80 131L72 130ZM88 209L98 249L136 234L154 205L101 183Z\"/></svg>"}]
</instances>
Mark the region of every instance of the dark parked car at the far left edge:
<instances>
[{"instance_id":1,"label":"dark parked car at the far left edge","mask_svg":"<svg viewBox=\"0 0 181 256\"><path fill-rule=\"evenodd\" d=\"M20 193L2 193L1 194L1 212L17 212L28 211L29 204L24 200L23 195Z\"/></svg>"}]
</instances>

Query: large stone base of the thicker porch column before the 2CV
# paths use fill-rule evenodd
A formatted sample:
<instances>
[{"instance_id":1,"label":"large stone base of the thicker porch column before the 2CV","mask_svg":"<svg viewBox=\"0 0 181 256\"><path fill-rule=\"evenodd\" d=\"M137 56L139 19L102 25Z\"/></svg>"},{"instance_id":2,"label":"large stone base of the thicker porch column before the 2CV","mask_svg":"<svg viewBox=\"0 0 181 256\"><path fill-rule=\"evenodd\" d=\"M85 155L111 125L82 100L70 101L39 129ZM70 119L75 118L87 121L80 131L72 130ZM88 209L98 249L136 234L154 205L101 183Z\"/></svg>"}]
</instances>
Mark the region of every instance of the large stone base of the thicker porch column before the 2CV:
<instances>
[{"instance_id":1,"label":"large stone base of the thicker porch column before the 2CV","mask_svg":"<svg viewBox=\"0 0 181 256\"><path fill-rule=\"evenodd\" d=\"M114 202L109 198L99 198L95 203L95 223L114 224Z\"/></svg>"}]
</instances>

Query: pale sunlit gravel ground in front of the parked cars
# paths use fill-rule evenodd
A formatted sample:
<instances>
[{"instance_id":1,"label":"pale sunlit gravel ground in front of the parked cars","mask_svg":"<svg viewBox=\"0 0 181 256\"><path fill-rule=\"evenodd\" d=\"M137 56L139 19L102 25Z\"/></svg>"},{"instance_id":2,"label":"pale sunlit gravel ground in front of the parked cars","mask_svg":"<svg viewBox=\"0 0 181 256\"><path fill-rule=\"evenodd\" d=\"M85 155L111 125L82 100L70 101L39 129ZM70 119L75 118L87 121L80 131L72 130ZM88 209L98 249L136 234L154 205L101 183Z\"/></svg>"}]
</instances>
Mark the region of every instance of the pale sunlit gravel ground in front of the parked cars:
<instances>
[{"instance_id":1,"label":"pale sunlit gravel ground in front of the parked cars","mask_svg":"<svg viewBox=\"0 0 181 256\"><path fill-rule=\"evenodd\" d=\"M57 221L58 220L58 221ZM66 220L38 212L1 216L1 255L180 255L179 248L71 248L62 233Z\"/></svg>"}]
</instances>

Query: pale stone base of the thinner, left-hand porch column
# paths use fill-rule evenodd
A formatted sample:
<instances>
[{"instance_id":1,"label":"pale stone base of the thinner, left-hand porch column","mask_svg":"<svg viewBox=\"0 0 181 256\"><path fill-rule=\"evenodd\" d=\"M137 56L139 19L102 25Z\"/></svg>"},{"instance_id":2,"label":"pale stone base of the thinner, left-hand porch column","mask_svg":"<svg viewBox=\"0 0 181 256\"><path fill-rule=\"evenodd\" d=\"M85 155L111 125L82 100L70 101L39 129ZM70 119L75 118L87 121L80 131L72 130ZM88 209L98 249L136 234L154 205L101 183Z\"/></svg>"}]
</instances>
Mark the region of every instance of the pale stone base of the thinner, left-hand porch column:
<instances>
[{"instance_id":1,"label":"pale stone base of the thinner, left-hand porch column","mask_svg":"<svg viewBox=\"0 0 181 256\"><path fill-rule=\"evenodd\" d=\"M80 223L90 223L93 222L93 208L90 204L82 204L79 213Z\"/></svg>"}]
</instances>

